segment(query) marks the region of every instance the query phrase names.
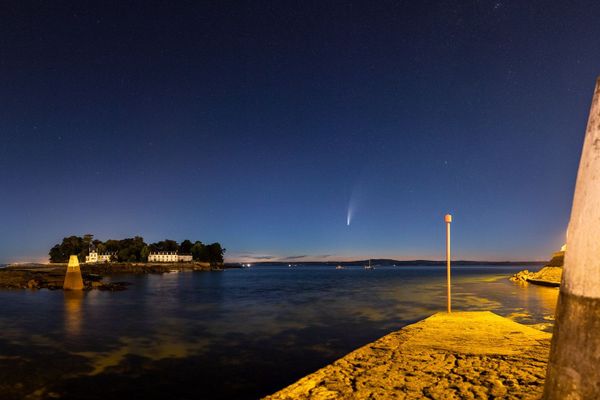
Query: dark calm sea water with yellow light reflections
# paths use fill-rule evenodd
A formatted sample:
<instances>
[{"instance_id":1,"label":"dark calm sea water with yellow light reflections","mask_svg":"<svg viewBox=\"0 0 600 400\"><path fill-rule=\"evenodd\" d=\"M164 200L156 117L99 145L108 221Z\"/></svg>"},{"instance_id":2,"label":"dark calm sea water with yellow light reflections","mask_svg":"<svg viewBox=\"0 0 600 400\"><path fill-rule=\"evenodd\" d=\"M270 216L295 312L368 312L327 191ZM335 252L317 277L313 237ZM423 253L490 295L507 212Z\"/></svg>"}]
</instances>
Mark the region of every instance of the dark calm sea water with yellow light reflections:
<instances>
[{"instance_id":1,"label":"dark calm sea water with yellow light reflections","mask_svg":"<svg viewBox=\"0 0 600 400\"><path fill-rule=\"evenodd\" d=\"M550 331L558 289L455 267L456 310ZM445 268L119 276L123 292L0 291L2 398L254 399L445 308ZM4 397L6 396L6 397Z\"/></svg>"}]
</instances>

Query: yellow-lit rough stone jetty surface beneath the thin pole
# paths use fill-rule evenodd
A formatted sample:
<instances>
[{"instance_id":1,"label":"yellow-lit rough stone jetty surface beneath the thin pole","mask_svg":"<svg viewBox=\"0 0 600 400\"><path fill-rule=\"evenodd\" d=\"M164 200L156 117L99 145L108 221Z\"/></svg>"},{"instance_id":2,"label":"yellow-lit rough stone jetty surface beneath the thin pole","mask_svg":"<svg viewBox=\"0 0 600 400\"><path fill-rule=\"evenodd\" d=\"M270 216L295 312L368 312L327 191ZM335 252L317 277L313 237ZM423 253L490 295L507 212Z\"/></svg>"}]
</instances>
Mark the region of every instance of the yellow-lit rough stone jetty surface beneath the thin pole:
<instances>
[{"instance_id":1,"label":"yellow-lit rough stone jetty surface beneath the thin pole","mask_svg":"<svg viewBox=\"0 0 600 400\"><path fill-rule=\"evenodd\" d=\"M266 399L538 399L551 336L488 311L438 313Z\"/></svg>"}]
</instances>

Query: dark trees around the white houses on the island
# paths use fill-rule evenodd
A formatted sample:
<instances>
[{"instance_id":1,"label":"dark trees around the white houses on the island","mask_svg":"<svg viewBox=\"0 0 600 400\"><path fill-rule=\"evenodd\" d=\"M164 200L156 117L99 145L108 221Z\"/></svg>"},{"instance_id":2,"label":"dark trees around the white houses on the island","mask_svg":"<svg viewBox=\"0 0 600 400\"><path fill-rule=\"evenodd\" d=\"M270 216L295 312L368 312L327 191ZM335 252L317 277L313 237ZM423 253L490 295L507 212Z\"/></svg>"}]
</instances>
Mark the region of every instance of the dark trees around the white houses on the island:
<instances>
[{"instance_id":1,"label":"dark trees around the white houses on the island","mask_svg":"<svg viewBox=\"0 0 600 400\"><path fill-rule=\"evenodd\" d=\"M148 255L157 251L176 251L179 254L191 254L194 261L208 262L211 265L223 263L225 249L220 243L204 244L197 240L184 240L177 243L175 240L162 240L147 244L141 236L105 242L94 239L94 235L69 236L62 243L50 249L50 262L67 262L69 256L77 254L79 261L85 261L89 250L96 250L99 254L111 254L111 261L116 262L145 262Z\"/></svg>"}]
</instances>

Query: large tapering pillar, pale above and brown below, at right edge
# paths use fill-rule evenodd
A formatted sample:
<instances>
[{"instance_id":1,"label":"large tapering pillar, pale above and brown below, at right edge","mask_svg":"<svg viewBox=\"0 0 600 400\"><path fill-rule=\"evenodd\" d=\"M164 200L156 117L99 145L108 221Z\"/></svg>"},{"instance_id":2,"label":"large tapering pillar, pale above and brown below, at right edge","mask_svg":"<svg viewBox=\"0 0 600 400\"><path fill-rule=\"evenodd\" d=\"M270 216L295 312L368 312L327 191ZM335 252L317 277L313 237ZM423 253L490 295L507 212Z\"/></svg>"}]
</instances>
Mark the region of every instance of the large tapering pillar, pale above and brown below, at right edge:
<instances>
[{"instance_id":1,"label":"large tapering pillar, pale above and brown below, at right edge","mask_svg":"<svg viewBox=\"0 0 600 400\"><path fill-rule=\"evenodd\" d=\"M600 78L588 119L544 399L600 399Z\"/></svg>"}]
</instances>

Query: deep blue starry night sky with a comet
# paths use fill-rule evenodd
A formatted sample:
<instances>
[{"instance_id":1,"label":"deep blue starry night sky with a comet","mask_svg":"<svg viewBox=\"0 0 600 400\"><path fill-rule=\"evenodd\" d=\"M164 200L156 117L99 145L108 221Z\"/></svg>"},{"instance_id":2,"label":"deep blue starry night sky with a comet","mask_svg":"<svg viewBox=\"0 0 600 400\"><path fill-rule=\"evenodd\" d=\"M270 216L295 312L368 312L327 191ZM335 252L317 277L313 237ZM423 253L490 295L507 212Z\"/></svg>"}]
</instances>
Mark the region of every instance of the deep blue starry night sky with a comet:
<instances>
[{"instance_id":1,"label":"deep blue starry night sky with a comet","mask_svg":"<svg viewBox=\"0 0 600 400\"><path fill-rule=\"evenodd\" d=\"M150 3L0 4L0 262L443 259L446 212L456 259L564 242L599 2Z\"/></svg>"}]
</instances>

